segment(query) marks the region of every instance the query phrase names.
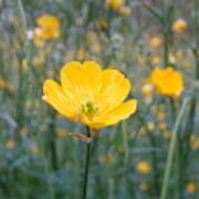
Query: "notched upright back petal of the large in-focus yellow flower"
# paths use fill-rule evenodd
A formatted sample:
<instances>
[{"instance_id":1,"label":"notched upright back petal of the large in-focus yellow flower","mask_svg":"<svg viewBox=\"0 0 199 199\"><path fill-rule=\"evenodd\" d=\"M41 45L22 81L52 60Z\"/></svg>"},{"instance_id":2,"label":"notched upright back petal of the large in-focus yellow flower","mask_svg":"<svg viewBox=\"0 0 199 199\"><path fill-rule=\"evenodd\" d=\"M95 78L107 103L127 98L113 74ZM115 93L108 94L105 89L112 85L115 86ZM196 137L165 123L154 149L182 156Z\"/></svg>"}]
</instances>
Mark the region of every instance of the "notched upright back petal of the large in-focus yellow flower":
<instances>
[{"instance_id":1,"label":"notched upright back petal of the large in-focus yellow flower","mask_svg":"<svg viewBox=\"0 0 199 199\"><path fill-rule=\"evenodd\" d=\"M101 78L102 69L95 62L84 62L83 64L80 62L70 62L61 70L61 82L64 92L71 98L81 102L93 101L100 91Z\"/></svg>"}]
</instances>

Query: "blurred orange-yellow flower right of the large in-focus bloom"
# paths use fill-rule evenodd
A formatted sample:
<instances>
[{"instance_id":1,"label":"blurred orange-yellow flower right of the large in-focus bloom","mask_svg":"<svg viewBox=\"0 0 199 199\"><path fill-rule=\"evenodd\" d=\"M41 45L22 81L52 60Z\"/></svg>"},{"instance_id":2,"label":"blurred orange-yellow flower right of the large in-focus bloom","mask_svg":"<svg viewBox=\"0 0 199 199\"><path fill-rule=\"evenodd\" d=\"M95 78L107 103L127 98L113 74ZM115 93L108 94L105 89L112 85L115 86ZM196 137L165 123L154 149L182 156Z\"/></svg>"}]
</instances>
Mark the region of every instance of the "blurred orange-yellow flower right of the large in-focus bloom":
<instances>
[{"instance_id":1,"label":"blurred orange-yellow flower right of the large in-focus bloom","mask_svg":"<svg viewBox=\"0 0 199 199\"><path fill-rule=\"evenodd\" d=\"M149 82L154 84L157 93L160 95L179 96L184 90L182 75L172 67L155 67Z\"/></svg>"}]
</instances>

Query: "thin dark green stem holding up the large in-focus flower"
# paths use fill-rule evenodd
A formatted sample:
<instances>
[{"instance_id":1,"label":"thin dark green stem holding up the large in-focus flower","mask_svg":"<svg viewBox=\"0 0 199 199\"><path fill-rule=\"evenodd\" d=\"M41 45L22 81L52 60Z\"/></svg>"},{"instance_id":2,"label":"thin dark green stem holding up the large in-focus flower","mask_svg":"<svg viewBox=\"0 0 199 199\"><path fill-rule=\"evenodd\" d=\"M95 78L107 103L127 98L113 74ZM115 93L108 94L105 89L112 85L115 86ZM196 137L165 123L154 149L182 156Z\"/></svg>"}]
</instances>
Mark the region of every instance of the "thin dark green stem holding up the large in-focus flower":
<instances>
[{"instance_id":1,"label":"thin dark green stem holding up the large in-focus flower","mask_svg":"<svg viewBox=\"0 0 199 199\"><path fill-rule=\"evenodd\" d=\"M87 126L86 126L86 136L91 137L91 129ZM86 154L85 154L85 169L84 169L84 177L83 177L82 199L86 199L87 198L90 159L91 159L91 143L87 143L86 144Z\"/></svg>"}]
</instances>

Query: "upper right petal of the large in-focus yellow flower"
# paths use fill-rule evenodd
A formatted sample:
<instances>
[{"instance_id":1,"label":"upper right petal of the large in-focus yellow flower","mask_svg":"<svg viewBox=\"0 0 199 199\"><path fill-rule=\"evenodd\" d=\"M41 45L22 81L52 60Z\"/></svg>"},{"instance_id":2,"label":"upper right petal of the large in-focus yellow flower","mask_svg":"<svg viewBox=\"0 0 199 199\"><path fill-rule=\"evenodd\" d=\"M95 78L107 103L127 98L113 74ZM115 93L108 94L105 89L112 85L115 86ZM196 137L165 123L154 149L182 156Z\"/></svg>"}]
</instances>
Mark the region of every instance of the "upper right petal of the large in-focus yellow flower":
<instances>
[{"instance_id":1,"label":"upper right petal of the large in-focus yellow flower","mask_svg":"<svg viewBox=\"0 0 199 199\"><path fill-rule=\"evenodd\" d=\"M101 87L100 107L109 111L117 107L130 91L130 82L117 70L103 71L103 85Z\"/></svg>"}]
</instances>

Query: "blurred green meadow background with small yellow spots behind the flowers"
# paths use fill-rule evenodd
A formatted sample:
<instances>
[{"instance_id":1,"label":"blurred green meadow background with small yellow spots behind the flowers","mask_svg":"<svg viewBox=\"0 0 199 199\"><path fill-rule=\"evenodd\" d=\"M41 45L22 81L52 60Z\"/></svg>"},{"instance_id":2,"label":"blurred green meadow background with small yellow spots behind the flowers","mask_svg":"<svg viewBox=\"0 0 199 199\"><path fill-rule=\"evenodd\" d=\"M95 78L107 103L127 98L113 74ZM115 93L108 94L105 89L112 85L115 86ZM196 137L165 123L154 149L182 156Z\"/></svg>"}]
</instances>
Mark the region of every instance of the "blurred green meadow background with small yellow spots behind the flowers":
<instances>
[{"instance_id":1,"label":"blurred green meadow background with small yellow spots behind the flowers","mask_svg":"<svg viewBox=\"0 0 199 199\"><path fill-rule=\"evenodd\" d=\"M0 199L81 198L86 144L69 133L85 127L42 101L43 81L59 81L73 60L122 71L138 100L136 114L96 134L87 198L159 199L176 132L167 198L198 199L198 4L126 0L115 9L104 0L0 0ZM43 14L60 19L61 33L38 43L32 32ZM186 25L175 30L178 19ZM150 90L155 66L182 73L179 97Z\"/></svg>"}]
</instances>

